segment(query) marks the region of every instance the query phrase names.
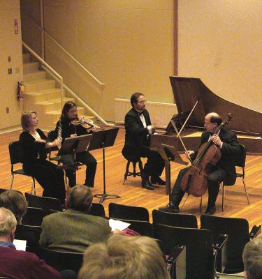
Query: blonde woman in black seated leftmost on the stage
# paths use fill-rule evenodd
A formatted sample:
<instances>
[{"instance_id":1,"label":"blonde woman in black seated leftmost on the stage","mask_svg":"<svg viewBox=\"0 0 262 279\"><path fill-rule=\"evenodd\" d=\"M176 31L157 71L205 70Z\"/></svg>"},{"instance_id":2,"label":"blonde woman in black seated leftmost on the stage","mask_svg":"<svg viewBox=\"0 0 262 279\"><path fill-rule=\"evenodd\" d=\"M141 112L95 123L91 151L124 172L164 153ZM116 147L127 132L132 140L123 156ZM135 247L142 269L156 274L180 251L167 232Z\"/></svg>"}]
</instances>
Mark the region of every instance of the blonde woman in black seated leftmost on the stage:
<instances>
[{"instance_id":1,"label":"blonde woman in black seated leftmost on the stage","mask_svg":"<svg viewBox=\"0 0 262 279\"><path fill-rule=\"evenodd\" d=\"M64 172L57 165L46 160L48 148L59 146L60 140L47 142L47 137L38 126L36 112L24 112L21 116L23 132L20 144L23 151L23 170L33 176L43 187L44 197L56 197L64 204L66 197L64 187Z\"/></svg>"}]
</instances>

